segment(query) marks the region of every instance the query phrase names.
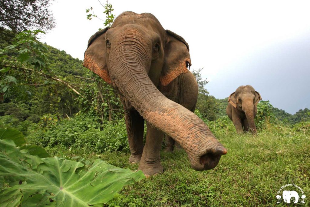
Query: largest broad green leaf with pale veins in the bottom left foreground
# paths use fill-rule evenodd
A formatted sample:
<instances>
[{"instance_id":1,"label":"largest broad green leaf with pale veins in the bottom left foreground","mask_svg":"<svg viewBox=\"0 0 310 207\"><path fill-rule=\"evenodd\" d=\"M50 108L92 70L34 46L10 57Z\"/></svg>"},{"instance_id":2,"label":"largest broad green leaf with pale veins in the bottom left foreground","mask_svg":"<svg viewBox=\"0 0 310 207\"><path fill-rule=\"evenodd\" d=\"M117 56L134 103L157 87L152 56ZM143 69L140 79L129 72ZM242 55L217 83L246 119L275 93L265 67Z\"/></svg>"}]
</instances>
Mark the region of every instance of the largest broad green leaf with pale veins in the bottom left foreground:
<instances>
[{"instance_id":1,"label":"largest broad green leaf with pale veins in the bottom left foreground","mask_svg":"<svg viewBox=\"0 0 310 207\"><path fill-rule=\"evenodd\" d=\"M145 178L141 171L131 172L102 160L95 160L85 169L84 164L63 158L40 159L19 151L9 139L0 140L0 163L0 179L4 177L10 184L10 188L0 192L0 203L6 202L7 206L19 205L16 200L20 199L20 192L27 206L38 200L43 206L48 196L56 206L106 203L124 185ZM21 185L19 181L23 181Z\"/></svg>"}]
</instances>

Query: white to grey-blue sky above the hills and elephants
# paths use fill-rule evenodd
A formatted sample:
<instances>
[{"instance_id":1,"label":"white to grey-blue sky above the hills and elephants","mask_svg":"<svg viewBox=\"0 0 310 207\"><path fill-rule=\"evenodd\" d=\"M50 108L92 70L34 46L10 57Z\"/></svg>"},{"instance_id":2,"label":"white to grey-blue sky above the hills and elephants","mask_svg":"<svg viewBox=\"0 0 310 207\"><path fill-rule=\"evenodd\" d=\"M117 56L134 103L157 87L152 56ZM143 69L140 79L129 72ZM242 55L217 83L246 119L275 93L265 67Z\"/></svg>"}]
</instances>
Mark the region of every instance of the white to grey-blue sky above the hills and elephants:
<instances>
[{"instance_id":1,"label":"white to grey-blue sky above the hills and elephants","mask_svg":"<svg viewBox=\"0 0 310 207\"><path fill-rule=\"evenodd\" d=\"M105 1L101 0L103 4ZM252 85L264 101L294 114L310 109L310 1L109 0L113 14L152 13L188 43L192 66L203 68L206 89L228 97ZM98 0L55 0L56 27L42 42L83 60L87 41L105 19ZM86 69L87 70L87 69Z\"/></svg>"}]
</instances>

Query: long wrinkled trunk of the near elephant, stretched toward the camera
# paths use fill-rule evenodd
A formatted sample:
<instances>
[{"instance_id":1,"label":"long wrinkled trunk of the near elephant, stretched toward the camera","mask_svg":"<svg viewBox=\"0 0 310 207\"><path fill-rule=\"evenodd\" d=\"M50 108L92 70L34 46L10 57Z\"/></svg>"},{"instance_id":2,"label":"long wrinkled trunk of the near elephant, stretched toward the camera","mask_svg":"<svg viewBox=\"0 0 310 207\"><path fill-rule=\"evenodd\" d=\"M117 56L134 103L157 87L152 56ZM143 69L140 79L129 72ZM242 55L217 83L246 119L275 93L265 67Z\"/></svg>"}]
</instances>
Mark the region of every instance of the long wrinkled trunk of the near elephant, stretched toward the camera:
<instances>
[{"instance_id":1,"label":"long wrinkled trunk of the near elephant, stretched toward the camera","mask_svg":"<svg viewBox=\"0 0 310 207\"><path fill-rule=\"evenodd\" d=\"M139 27L127 26L114 40L108 66L115 87L146 121L180 143L193 169L214 168L227 150L201 119L166 98L148 77L152 38Z\"/></svg>"}]
</instances>

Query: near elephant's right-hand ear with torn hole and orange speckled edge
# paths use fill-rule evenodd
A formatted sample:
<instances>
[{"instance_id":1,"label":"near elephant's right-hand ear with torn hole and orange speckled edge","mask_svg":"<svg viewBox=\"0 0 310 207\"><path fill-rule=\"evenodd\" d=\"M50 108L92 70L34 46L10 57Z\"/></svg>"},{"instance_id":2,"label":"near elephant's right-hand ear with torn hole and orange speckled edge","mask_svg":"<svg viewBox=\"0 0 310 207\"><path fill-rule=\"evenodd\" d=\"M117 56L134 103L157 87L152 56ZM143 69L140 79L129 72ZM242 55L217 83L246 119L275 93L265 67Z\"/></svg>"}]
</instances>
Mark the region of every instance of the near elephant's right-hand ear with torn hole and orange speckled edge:
<instances>
[{"instance_id":1,"label":"near elephant's right-hand ear with torn hole and orange speckled edge","mask_svg":"<svg viewBox=\"0 0 310 207\"><path fill-rule=\"evenodd\" d=\"M168 85L180 74L187 73L192 65L186 41L170 30L166 30L166 35L165 60L160 76L160 82L163 86Z\"/></svg>"}]
</instances>

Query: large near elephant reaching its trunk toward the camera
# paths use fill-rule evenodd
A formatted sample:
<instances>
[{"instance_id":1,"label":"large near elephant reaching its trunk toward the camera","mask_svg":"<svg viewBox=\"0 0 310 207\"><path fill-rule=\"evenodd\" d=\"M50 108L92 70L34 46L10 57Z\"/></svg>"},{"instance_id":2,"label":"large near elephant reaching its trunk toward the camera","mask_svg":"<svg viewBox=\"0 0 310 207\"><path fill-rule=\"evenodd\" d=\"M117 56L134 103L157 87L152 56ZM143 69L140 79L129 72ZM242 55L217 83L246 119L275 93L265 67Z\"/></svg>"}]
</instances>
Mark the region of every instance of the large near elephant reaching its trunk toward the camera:
<instances>
[{"instance_id":1,"label":"large near elephant reaching its trunk toward the camera","mask_svg":"<svg viewBox=\"0 0 310 207\"><path fill-rule=\"evenodd\" d=\"M187 69L190 65L185 40L163 29L149 13L126 11L111 28L96 32L88 41L84 66L119 92L125 109L129 161L140 161L139 169L146 175L163 172L160 149L164 133L181 144L196 170L214 168L227 153L201 119L176 103L193 99L191 89L197 82Z\"/></svg>"}]
</instances>

